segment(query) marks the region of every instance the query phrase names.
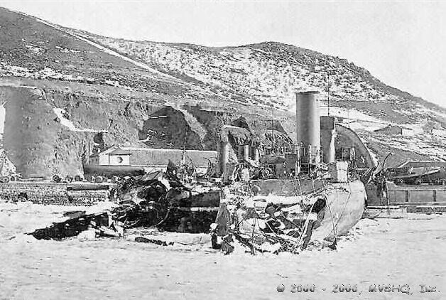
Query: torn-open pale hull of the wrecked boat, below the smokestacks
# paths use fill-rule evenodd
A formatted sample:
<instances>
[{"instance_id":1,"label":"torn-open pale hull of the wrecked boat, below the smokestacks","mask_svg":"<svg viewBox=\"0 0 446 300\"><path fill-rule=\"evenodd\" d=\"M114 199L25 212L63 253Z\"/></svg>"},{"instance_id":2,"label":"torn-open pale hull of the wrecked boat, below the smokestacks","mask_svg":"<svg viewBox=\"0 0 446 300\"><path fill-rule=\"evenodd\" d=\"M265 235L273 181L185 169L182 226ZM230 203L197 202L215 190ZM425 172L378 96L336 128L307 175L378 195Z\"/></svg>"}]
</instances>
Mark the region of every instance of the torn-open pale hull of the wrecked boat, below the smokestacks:
<instances>
[{"instance_id":1,"label":"torn-open pale hull of the wrecked boat, below the smokestacks","mask_svg":"<svg viewBox=\"0 0 446 300\"><path fill-rule=\"evenodd\" d=\"M329 241L329 247L335 248L337 237L361 219L366 195L364 185L361 181L322 185L321 181L320 187L313 189L299 183L298 180L269 182L277 189L293 186L294 195L232 194L232 198L220 204L216 223L212 225L213 247L232 252L235 238L253 254L298 253L316 241ZM255 184L250 186L250 191L258 190Z\"/></svg>"}]
</instances>

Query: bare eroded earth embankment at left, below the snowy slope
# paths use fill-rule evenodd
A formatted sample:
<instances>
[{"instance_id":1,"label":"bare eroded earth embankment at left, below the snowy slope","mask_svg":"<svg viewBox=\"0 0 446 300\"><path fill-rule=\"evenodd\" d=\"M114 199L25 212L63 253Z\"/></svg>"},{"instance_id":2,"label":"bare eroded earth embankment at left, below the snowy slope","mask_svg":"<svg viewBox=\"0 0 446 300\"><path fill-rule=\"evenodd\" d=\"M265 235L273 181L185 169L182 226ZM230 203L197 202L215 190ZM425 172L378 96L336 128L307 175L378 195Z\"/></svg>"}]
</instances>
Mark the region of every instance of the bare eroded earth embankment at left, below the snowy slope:
<instances>
[{"instance_id":1,"label":"bare eroded earth embankment at left, below the snowy slope","mask_svg":"<svg viewBox=\"0 0 446 300\"><path fill-rule=\"evenodd\" d=\"M5 103L6 112L4 149L23 178L82 175L82 162L87 161L94 146L178 149L184 146L185 137L187 149L201 144L202 141L195 141L200 136L187 126L178 127L178 122L156 118L153 121L161 127L149 124L160 109L167 109L155 97L136 99L122 95L121 91L96 87L48 87L42 82L38 87L0 85L0 104ZM181 112L172 110L184 119ZM141 132L154 132L153 129L158 136L141 137ZM183 138L172 136L168 140L175 143L169 143L169 133Z\"/></svg>"}]
</instances>

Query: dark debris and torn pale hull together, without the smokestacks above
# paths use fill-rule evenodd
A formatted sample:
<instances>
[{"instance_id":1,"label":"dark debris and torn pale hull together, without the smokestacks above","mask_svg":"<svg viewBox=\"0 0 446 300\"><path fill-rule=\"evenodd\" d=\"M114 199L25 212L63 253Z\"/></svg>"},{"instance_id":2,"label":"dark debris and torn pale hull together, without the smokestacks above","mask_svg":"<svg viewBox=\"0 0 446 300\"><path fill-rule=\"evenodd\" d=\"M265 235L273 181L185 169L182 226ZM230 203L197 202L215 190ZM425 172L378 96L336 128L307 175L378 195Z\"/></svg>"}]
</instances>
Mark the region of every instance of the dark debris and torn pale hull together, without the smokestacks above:
<instances>
[{"instance_id":1,"label":"dark debris and torn pale hull together, without the smokestacks above","mask_svg":"<svg viewBox=\"0 0 446 300\"><path fill-rule=\"evenodd\" d=\"M61 223L31 233L36 239L62 240L81 232L123 237L136 227L166 232L210 233L212 248L225 254L235 243L247 252L298 253L316 240L345 234L361 218L365 191L360 181L239 181L192 193L175 172L136 176L119 184L119 205L100 213L75 212ZM171 245L137 237L136 242Z\"/></svg>"}]
</instances>

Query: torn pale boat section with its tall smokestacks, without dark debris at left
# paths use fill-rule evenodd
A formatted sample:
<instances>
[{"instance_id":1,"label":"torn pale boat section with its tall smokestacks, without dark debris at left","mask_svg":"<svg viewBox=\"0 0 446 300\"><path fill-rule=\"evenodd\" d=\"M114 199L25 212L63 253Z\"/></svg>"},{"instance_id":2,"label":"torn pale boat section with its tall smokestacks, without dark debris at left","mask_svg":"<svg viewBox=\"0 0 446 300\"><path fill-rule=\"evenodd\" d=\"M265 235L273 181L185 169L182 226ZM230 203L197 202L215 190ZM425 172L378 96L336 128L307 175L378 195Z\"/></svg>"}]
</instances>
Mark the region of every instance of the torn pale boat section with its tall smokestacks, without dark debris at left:
<instances>
[{"instance_id":1,"label":"torn pale boat section with its tall smokestacks, without dark debris at left","mask_svg":"<svg viewBox=\"0 0 446 300\"><path fill-rule=\"evenodd\" d=\"M235 239L252 253L298 253L325 241L335 248L337 237L361 219L366 191L354 150L349 159L335 161L335 118L323 117L321 126L316 96L297 93L298 147L293 154L256 168L249 161L240 167L240 173L255 169L276 178L229 186L212 225L212 247L232 252ZM278 178L282 171L286 178Z\"/></svg>"}]
</instances>

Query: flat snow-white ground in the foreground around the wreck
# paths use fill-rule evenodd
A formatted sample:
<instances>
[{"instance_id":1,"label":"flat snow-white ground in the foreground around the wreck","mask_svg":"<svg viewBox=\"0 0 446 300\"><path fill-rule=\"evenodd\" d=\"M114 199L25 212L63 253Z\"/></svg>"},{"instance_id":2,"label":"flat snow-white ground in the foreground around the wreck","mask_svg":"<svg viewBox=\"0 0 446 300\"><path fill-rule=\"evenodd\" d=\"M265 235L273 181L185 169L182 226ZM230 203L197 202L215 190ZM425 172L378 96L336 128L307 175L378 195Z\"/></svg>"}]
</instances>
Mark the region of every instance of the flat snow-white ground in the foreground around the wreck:
<instances>
[{"instance_id":1,"label":"flat snow-white ground in the foreground around the wreck","mask_svg":"<svg viewBox=\"0 0 446 300\"><path fill-rule=\"evenodd\" d=\"M446 299L445 215L361 220L338 250L300 255L224 256L209 244L23 235L68 209L0 203L0 299ZM285 292L276 291L278 284ZM317 290L292 294L291 284ZM332 294L333 284L357 284L362 293ZM413 294L369 293L370 284L408 284ZM418 284L439 292L420 294Z\"/></svg>"}]
</instances>

